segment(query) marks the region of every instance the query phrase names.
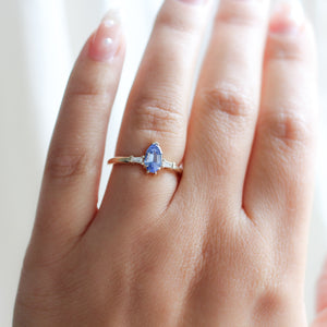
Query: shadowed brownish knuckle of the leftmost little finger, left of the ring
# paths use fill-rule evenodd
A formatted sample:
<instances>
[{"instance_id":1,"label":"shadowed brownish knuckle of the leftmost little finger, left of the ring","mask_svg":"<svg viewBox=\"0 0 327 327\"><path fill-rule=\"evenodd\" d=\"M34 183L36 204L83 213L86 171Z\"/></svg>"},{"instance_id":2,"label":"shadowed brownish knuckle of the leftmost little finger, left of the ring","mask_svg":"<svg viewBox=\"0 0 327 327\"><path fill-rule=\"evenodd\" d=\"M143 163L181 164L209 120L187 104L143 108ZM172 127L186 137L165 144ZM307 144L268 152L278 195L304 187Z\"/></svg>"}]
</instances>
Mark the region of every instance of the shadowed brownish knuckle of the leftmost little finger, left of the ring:
<instances>
[{"instance_id":1,"label":"shadowed brownish knuckle of the leftmost little finger, left of the ring","mask_svg":"<svg viewBox=\"0 0 327 327\"><path fill-rule=\"evenodd\" d=\"M71 179L95 172L96 162L80 148L56 148L50 150L46 164L46 173L52 179Z\"/></svg>"}]
</instances>

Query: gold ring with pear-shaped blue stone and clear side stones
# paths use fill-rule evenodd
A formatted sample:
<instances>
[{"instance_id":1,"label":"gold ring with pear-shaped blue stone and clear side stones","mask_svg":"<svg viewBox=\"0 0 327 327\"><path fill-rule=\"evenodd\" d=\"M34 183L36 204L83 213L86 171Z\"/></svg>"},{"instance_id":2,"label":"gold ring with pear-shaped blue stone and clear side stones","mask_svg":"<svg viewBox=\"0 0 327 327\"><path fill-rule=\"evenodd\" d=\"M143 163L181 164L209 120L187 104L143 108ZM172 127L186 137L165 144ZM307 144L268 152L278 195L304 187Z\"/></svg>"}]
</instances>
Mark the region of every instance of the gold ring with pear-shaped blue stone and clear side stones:
<instances>
[{"instance_id":1,"label":"gold ring with pear-shaped blue stone and clear side stones","mask_svg":"<svg viewBox=\"0 0 327 327\"><path fill-rule=\"evenodd\" d=\"M111 164L138 164L146 169L147 173L152 174L157 174L161 169L171 169L178 173L183 171L182 166L164 159L162 150L158 142L153 143L142 157L114 157L108 160L108 165Z\"/></svg>"}]
</instances>

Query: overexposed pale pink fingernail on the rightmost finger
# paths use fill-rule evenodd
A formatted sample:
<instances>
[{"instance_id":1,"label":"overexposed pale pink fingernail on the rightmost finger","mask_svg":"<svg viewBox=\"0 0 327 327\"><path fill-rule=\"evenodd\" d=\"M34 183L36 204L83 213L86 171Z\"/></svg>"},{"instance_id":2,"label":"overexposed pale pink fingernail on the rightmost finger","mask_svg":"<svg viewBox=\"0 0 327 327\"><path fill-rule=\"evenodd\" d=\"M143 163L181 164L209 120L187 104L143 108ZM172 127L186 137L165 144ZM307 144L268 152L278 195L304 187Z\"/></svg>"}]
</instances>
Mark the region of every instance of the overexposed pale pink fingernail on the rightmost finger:
<instances>
[{"instance_id":1,"label":"overexposed pale pink fingernail on the rightmost finger","mask_svg":"<svg viewBox=\"0 0 327 327\"><path fill-rule=\"evenodd\" d=\"M304 24L305 15L300 0L283 0L276 4L271 21L271 33L298 33Z\"/></svg>"}]
</instances>

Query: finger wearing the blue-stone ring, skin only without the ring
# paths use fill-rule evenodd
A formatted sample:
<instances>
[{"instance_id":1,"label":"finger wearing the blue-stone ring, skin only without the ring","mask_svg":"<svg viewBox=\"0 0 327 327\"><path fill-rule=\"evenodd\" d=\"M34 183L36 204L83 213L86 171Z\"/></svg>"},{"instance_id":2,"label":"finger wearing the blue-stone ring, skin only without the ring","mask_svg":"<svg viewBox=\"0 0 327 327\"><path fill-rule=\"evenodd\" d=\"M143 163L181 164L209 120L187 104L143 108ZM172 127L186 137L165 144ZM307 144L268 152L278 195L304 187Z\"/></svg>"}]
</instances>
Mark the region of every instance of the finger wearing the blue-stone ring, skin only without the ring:
<instances>
[{"instance_id":1,"label":"finger wearing the blue-stone ring, skin only without the ring","mask_svg":"<svg viewBox=\"0 0 327 327\"><path fill-rule=\"evenodd\" d=\"M209 8L205 0L165 1L128 101L117 155L142 156L158 142L164 157L178 164L182 160L194 73ZM146 190L149 205L165 207L175 190L175 174L161 171L153 178L142 169L116 165L104 203L111 206L126 198L133 206L140 204L142 190ZM118 198L116 194L122 187L126 196Z\"/></svg>"}]
</instances>

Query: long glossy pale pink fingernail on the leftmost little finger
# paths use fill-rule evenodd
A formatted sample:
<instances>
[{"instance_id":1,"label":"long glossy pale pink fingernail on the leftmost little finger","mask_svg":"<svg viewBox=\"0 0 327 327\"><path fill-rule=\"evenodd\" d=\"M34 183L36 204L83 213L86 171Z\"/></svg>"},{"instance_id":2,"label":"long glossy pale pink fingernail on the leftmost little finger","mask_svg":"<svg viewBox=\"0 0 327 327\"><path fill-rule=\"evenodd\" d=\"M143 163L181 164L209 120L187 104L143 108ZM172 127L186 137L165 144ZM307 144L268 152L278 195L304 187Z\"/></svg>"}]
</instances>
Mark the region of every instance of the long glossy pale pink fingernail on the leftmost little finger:
<instances>
[{"instance_id":1,"label":"long glossy pale pink fingernail on the leftmost little finger","mask_svg":"<svg viewBox=\"0 0 327 327\"><path fill-rule=\"evenodd\" d=\"M121 36L121 17L117 9L110 10L102 19L90 41L88 55L97 61L112 59L119 48Z\"/></svg>"}]
</instances>

